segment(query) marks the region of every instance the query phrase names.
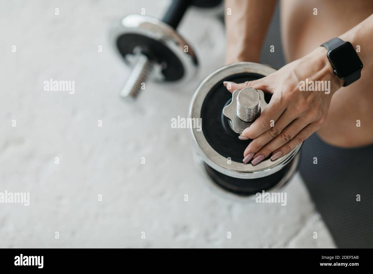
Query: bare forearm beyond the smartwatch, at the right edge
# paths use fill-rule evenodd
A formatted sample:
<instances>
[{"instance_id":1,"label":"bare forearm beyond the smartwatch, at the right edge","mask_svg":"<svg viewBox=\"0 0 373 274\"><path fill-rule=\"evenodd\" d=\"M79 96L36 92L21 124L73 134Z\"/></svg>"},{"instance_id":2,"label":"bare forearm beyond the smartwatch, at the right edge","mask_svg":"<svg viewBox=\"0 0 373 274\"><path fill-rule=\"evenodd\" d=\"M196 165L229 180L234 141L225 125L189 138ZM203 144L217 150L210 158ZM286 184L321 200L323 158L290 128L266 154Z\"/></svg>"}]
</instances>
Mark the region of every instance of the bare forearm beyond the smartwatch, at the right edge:
<instances>
[{"instance_id":1,"label":"bare forearm beyond the smartwatch, at the right edge","mask_svg":"<svg viewBox=\"0 0 373 274\"><path fill-rule=\"evenodd\" d=\"M360 52L357 52L357 54L364 67L367 68L373 64L373 15L339 36L339 38L351 42L355 49L358 45L360 46Z\"/></svg>"}]
</instances>

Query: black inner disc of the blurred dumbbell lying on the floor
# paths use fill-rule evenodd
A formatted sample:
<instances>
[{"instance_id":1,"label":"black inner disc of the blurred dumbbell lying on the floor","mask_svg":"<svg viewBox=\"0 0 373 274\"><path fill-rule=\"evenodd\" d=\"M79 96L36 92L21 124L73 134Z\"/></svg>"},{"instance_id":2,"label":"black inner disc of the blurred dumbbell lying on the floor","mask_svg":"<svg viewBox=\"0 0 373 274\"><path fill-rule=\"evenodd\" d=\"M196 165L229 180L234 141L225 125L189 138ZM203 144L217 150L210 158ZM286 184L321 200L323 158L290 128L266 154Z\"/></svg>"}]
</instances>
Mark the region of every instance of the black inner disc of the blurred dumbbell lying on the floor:
<instances>
[{"instance_id":1,"label":"black inner disc of the blurred dumbbell lying on the floor","mask_svg":"<svg viewBox=\"0 0 373 274\"><path fill-rule=\"evenodd\" d=\"M150 60L166 64L162 73L165 81L176 81L184 75L184 67L178 57L161 42L135 33L122 34L117 38L117 47L123 57L133 54L135 47L140 47Z\"/></svg>"}]
</instances>

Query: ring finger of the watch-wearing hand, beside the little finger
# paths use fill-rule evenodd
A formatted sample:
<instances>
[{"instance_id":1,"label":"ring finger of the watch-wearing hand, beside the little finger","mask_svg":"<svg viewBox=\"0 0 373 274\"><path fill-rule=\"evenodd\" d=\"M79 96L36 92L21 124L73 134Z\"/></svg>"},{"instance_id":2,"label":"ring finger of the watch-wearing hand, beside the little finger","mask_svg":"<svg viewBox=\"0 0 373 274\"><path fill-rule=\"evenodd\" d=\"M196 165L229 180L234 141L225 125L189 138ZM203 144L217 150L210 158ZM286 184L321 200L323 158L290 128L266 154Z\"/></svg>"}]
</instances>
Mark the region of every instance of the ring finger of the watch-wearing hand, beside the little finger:
<instances>
[{"instance_id":1,"label":"ring finger of the watch-wearing hand, beside the little finger","mask_svg":"<svg viewBox=\"0 0 373 274\"><path fill-rule=\"evenodd\" d=\"M261 160L267 158L273 151L282 147L283 145L287 144L291 141L297 134L304 129L309 122L305 119L296 119L294 120L289 126L285 127L282 132L276 136L272 141L270 141L267 145L261 148L253 157L253 165L260 163ZM278 154L279 155L279 154ZM276 156L278 156L276 155ZM259 157L261 156L261 157ZM259 160L256 160L258 157ZM261 160L260 160L261 159Z\"/></svg>"}]
</instances>

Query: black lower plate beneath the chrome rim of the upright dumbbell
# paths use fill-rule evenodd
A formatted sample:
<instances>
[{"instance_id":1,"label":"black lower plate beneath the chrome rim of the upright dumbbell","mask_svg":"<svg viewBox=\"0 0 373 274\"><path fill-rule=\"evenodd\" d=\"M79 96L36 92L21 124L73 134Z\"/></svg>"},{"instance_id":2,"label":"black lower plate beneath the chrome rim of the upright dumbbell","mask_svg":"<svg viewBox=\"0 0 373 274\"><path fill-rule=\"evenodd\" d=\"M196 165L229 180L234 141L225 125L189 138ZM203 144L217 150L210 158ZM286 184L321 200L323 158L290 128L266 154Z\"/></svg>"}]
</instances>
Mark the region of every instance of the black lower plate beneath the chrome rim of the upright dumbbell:
<instances>
[{"instance_id":1,"label":"black lower plate beneath the chrome rim of the upright dumbbell","mask_svg":"<svg viewBox=\"0 0 373 274\"><path fill-rule=\"evenodd\" d=\"M262 190L267 191L276 186L289 171L292 161L276 173L256 179L233 178L214 170L206 163L203 163L203 165L213 182L221 188L237 195L250 196L262 192Z\"/></svg>"}]
</instances>

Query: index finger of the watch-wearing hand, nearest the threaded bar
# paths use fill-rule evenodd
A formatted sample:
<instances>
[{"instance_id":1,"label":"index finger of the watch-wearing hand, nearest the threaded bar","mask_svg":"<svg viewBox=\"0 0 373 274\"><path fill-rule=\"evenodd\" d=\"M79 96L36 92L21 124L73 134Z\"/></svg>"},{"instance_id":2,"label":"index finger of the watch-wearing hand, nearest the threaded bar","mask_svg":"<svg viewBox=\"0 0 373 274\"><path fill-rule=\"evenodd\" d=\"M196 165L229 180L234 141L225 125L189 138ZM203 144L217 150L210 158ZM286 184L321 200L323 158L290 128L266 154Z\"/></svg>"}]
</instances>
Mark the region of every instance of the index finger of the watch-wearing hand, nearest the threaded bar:
<instances>
[{"instance_id":1,"label":"index finger of the watch-wearing hand, nearest the threaded bar","mask_svg":"<svg viewBox=\"0 0 373 274\"><path fill-rule=\"evenodd\" d=\"M286 105L284 103L281 103L280 100L276 100L272 97L272 100L269 102L267 107L264 108L260 116L254 121L253 124L251 124L250 127L247 127L241 133L241 136L245 136L249 139L257 138L276 123L285 109Z\"/></svg>"}]
</instances>

